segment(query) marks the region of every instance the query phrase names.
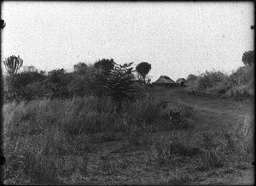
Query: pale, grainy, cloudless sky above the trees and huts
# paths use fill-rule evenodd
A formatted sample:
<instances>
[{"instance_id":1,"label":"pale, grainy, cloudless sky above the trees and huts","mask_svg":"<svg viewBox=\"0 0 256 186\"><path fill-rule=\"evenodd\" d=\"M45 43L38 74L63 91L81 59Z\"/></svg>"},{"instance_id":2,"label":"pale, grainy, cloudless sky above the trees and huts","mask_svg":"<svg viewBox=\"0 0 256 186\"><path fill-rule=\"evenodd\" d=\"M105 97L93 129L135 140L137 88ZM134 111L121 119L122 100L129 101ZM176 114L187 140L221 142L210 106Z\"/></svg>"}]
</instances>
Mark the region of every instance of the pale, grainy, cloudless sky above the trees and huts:
<instances>
[{"instance_id":1,"label":"pale, grainy, cloudless sky above the trees and huts","mask_svg":"<svg viewBox=\"0 0 256 186\"><path fill-rule=\"evenodd\" d=\"M20 55L23 65L46 71L98 59L148 62L152 81L230 73L253 50L253 11L253 2L6 1L2 60Z\"/></svg>"}]
</instances>

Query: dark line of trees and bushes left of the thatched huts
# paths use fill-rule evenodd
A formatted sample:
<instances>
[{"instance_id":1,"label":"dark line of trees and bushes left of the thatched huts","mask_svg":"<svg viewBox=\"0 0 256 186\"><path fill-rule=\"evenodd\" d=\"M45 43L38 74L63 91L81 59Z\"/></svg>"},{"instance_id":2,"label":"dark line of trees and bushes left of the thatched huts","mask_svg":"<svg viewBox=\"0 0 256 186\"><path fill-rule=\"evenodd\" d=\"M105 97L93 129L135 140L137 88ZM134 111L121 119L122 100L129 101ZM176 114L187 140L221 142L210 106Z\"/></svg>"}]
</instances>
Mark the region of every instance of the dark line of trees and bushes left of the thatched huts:
<instances>
[{"instance_id":1,"label":"dark line of trees and bushes left of the thatched huts","mask_svg":"<svg viewBox=\"0 0 256 186\"><path fill-rule=\"evenodd\" d=\"M119 65L113 59L99 59L93 65L79 62L73 65L73 71L56 69L48 73L34 66L23 65L20 56L9 56L3 61L8 72L5 76L4 101L32 99L69 99L73 96L96 95L109 96L117 102L134 99L143 88L147 88L150 79L146 76L151 70L148 62L138 64L134 70L132 63Z\"/></svg>"}]
</instances>

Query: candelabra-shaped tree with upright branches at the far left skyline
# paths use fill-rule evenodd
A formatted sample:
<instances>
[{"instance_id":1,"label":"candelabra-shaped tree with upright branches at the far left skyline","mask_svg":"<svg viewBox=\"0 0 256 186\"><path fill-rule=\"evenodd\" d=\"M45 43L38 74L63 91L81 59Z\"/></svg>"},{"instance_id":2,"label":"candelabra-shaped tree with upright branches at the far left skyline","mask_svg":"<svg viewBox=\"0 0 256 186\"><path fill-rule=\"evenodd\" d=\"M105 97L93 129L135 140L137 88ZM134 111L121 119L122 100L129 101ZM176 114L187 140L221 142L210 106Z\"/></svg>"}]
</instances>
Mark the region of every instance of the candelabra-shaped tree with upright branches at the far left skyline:
<instances>
[{"instance_id":1,"label":"candelabra-shaped tree with upright branches at the far left skyline","mask_svg":"<svg viewBox=\"0 0 256 186\"><path fill-rule=\"evenodd\" d=\"M20 59L20 56L16 57L15 55L9 56L3 61L6 70L9 72L9 75L12 76L17 73L20 67L23 65L23 60Z\"/></svg>"}]
</instances>

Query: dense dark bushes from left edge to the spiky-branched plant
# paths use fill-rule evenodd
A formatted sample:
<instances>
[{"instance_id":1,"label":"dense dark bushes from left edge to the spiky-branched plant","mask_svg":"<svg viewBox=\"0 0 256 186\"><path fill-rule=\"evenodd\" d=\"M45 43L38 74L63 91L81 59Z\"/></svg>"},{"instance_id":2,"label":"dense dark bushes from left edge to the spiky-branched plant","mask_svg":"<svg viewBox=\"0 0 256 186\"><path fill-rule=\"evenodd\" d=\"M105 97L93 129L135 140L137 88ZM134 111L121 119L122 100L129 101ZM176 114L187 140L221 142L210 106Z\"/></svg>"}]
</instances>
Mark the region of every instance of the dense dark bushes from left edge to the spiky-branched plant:
<instances>
[{"instance_id":1,"label":"dense dark bushes from left edge to the spiky-branched plant","mask_svg":"<svg viewBox=\"0 0 256 186\"><path fill-rule=\"evenodd\" d=\"M84 70L84 69L83 69ZM67 73L52 70L48 75L35 71L24 71L4 77L4 102L44 98L68 99L86 94L102 96L103 88L96 80L96 69L87 66L85 71Z\"/></svg>"}]
</instances>

